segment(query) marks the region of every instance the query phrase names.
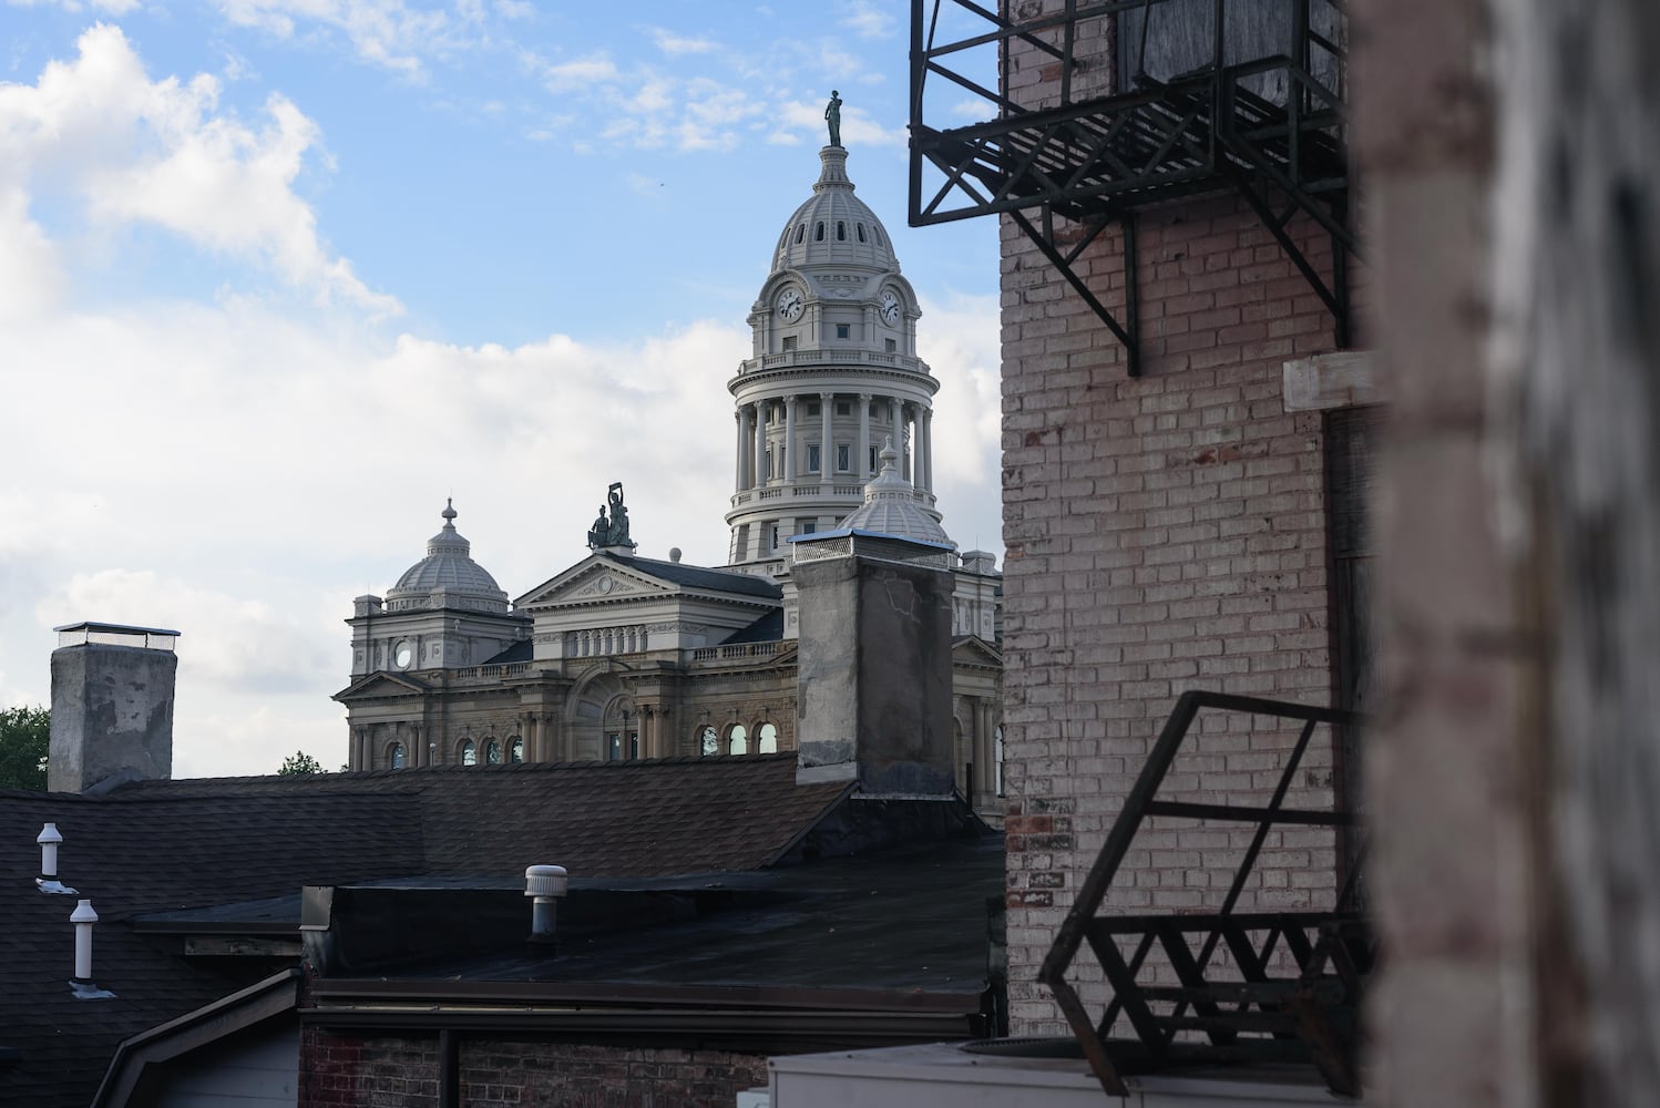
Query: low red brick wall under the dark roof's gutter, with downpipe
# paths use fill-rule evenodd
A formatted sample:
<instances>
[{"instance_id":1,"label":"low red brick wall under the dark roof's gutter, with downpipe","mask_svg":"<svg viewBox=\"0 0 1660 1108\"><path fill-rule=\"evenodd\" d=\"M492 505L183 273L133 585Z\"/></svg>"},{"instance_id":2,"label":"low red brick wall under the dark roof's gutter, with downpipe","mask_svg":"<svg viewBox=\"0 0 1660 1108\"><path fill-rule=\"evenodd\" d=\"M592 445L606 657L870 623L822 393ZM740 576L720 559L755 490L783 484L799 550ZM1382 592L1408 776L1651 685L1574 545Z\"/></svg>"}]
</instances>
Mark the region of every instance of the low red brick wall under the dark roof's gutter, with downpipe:
<instances>
[{"instance_id":1,"label":"low red brick wall under the dark roof's gutter, with downpipe","mask_svg":"<svg viewBox=\"0 0 1660 1108\"><path fill-rule=\"evenodd\" d=\"M468 1108L730 1108L767 1085L764 1057L720 1050L470 1037L456 1055ZM437 1108L438 1081L437 1035L302 1033L300 1108Z\"/></svg>"}]
</instances>

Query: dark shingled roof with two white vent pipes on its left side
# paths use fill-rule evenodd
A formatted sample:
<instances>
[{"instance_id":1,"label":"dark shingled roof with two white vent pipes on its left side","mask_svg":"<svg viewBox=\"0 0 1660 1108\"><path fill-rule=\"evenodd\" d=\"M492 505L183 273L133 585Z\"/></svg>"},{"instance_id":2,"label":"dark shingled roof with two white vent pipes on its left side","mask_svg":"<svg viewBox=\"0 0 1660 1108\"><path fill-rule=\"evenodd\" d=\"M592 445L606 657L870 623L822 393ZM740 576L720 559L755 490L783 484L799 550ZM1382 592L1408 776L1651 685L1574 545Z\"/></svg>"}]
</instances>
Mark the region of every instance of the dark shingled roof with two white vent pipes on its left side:
<instances>
[{"instance_id":1,"label":"dark shingled roof with two white vent pipes on its left side","mask_svg":"<svg viewBox=\"0 0 1660 1108\"><path fill-rule=\"evenodd\" d=\"M745 871L775 861L845 788L795 785L793 755L438 766L317 776L143 781L105 796L0 791L0 1101L85 1105L116 1043L271 970L221 975L178 937L124 921L231 901L437 874L516 877ZM35 836L56 823L60 877L93 899L93 977L73 1000L75 897L43 896ZM237 975L239 974L239 975Z\"/></svg>"}]
</instances>

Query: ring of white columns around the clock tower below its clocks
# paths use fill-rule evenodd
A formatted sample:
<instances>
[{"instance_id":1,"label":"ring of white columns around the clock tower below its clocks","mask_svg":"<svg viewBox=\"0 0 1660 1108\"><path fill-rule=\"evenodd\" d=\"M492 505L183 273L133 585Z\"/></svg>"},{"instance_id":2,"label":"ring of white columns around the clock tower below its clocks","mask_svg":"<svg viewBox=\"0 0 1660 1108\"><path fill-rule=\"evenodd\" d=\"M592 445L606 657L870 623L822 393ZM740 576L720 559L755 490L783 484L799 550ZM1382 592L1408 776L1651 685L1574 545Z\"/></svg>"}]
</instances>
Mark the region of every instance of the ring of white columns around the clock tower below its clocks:
<instances>
[{"instance_id":1,"label":"ring of white columns around the clock tower below its clocks","mask_svg":"<svg viewBox=\"0 0 1660 1108\"><path fill-rule=\"evenodd\" d=\"M803 443L800 441L802 433L812 433L810 425L802 418L800 408L802 400L812 403L818 401L818 471L812 473L807 468L807 461L798 456L802 453ZM838 400L855 400L858 405L858 436L853 441L838 443L835 438L835 405ZM767 410L784 405L784 435L775 433L775 421L765 418ZM784 451L782 463L777 466L780 478L785 483L803 484L835 484L837 476L837 446L847 445L853 451L850 459L853 464L842 473L842 481L857 481L863 484L872 476L872 446L880 446L880 443L872 436L870 426L870 408L872 403L881 403L888 408L888 426L895 428L895 450L901 451L900 456L900 473L906 481L928 493L933 491L933 408L920 405L913 400L901 400L898 396L878 396L875 393L792 393L787 396L767 396L754 403L740 405L737 411L732 413L737 423L737 473L734 476L735 491L742 493L745 489L764 488L770 478L767 473L767 445L769 440L777 443L777 448ZM845 420L845 416L843 416ZM905 428L911 430L910 440L906 443ZM845 425L843 425L845 426ZM774 435L769 436L769 428ZM908 446L908 448L906 448ZM880 468L880 459L876 466Z\"/></svg>"}]
</instances>

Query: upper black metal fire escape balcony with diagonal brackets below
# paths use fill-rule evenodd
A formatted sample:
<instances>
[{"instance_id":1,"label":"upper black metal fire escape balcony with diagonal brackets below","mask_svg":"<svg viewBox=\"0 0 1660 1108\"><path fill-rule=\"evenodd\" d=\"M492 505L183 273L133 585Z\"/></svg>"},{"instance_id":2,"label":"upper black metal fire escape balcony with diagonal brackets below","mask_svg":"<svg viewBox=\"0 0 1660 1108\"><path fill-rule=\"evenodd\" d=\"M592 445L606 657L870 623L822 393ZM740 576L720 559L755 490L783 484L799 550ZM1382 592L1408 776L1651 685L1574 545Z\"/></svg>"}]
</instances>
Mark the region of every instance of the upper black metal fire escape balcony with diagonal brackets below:
<instances>
[{"instance_id":1,"label":"upper black metal fire escape balcony with diagonal brackets below","mask_svg":"<svg viewBox=\"0 0 1660 1108\"><path fill-rule=\"evenodd\" d=\"M998 12L911 0L910 222L1008 214L1139 377L1137 211L1235 192L1346 347L1356 237L1345 23L1343 0L1001 0ZM1116 36L1116 60L1106 35ZM1026 76L1021 66L1036 66L1041 81L1011 80ZM966 106L983 121L940 124ZM1298 216L1330 236L1330 274L1298 247ZM1117 312L1079 272L1109 227L1122 236Z\"/></svg>"}]
</instances>

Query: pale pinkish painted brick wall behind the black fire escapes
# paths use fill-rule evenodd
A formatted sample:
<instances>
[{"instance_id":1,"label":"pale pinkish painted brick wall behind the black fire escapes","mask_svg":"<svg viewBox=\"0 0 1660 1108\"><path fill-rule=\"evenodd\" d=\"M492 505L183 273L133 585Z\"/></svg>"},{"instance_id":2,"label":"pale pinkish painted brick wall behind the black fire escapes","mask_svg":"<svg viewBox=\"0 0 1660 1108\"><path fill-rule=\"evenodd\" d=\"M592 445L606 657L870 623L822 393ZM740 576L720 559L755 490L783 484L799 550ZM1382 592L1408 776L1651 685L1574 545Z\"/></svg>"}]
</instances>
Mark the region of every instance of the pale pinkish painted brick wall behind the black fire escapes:
<instances>
[{"instance_id":1,"label":"pale pinkish painted brick wall behind the black fire escapes","mask_svg":"<svg viewBox=\"0 0 1660 1108\"><path fill-rule=\"evenodd\" d=\"M1091 38L1102 50L1109 33ZM1023 65L1023 63L1031 63ZM1009 60L1038 103L1057 78ZM1111 71L1102 65L1097 71ZM1320 272L1311 221L1291 234ZM1243 201L1139 219L1142 377L1087 305L1004 219L1004 720L1013 1033L1066 1033L1036 972L1179 693L1330 703L1321 416L1288 415L1282 363L1335 348L1333 320ZM1122 250L1076 264L1112 309ZM1262 803L1295 735L1212 720L1170 798ZM1330 806L1330 748L1298 806ZM1114 906L1220 902L1243 831L1170 823L1137 843ZM1275 833L1242 907L1330 899L1326 831ZM1086 1000L1102 990L1082 970Z\"/></svg>"}]
</instances>

